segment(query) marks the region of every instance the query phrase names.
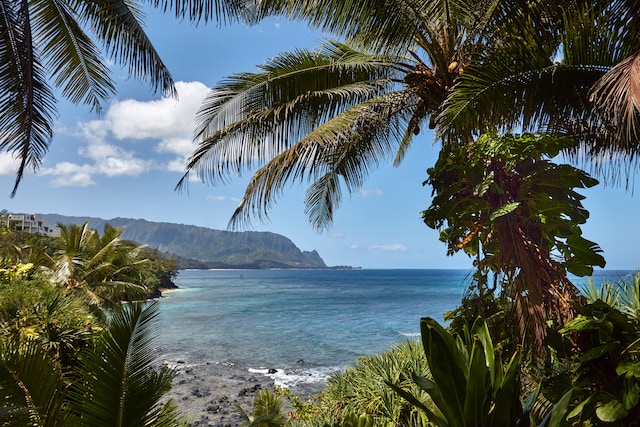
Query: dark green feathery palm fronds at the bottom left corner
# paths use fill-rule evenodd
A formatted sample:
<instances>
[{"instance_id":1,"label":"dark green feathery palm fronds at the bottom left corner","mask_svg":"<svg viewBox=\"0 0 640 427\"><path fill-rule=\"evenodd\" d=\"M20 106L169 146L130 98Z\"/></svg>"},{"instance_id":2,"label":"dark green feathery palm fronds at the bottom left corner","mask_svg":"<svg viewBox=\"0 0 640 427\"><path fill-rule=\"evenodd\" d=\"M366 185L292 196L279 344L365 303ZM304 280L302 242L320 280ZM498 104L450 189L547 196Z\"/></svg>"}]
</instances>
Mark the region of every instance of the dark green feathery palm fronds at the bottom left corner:
<instances>
[{"instance_id":1,"label":"dark green feathery palm fronds at the bottom left corner","mask_svg":"<svg viewBox=\"0 0 640 427\"><path fill-rule=\"evenodd\" d=\"M162 403L174 372L157 368L157 307L129 304L113 313L95 351L72 372L34 339L0 341L1 406L7 426L172 426L173 401Z\"/></svg>"}]
</instances>

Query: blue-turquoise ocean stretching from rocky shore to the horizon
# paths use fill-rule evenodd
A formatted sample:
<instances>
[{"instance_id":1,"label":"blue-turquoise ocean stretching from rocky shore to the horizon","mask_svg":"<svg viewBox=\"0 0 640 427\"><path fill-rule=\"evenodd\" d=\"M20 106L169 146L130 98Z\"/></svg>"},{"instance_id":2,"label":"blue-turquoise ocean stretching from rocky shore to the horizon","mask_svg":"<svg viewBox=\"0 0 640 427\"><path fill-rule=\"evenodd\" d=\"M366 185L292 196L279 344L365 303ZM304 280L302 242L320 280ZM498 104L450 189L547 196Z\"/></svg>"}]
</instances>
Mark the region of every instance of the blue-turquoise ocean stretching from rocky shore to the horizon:
<instances>
[{"instance_id":1,"label":"blue-turquoise ocean stretching from rocky shore to the horizon","mask_svg":"<svg viewBox=\"0 0 640 427\"><path fill-rule=\"evenodd\" d=\"M226 363L295 386L443 322L469 270L183 270L160 299L158 344L167 363ZM629 271L599 271L594 282ZM586 283L578 279L577 284Z\"/></svg>"}]
</instances>

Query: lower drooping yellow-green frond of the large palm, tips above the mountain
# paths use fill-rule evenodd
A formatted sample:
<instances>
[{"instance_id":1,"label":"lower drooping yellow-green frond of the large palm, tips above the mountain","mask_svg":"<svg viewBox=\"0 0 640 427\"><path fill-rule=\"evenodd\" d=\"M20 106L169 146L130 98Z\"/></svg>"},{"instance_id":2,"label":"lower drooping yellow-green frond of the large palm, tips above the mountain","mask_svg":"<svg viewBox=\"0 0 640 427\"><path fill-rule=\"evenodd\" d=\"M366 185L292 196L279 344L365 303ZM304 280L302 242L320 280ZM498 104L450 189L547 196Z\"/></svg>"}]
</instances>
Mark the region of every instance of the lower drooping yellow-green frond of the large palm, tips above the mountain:
<instances>
[{"instance_id":1,"label":"lower drooping yellow-green frond of the large palm, tips above the mountain","mask_svg":"<svg viewBox=\"0 0 640 427\"><path fill-rule=\"evenodd\" d=\"M326 228L340 201L344 185L349 192L362 186L371 168L388 159L403 137L406 93L381 95L327 121L300 142L260 168L234 212L230 228L268 219L268 211L291 182L315 181L308 189L306 214L316 230Z\"/></svg>"}]
</instances>

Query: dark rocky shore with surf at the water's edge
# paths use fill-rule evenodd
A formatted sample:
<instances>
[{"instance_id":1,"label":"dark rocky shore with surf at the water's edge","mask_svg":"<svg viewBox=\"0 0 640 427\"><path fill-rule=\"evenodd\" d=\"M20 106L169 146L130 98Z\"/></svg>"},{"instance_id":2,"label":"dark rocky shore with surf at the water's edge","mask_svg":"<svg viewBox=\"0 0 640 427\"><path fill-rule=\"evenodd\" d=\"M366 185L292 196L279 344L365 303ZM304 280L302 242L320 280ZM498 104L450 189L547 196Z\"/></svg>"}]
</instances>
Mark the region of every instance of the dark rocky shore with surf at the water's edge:
<instances>
[{"instance_id":1,"label":"dark rocky shore with surf at the water's edge","mask_svg":"<svg viewBox=\"0 0 640 427\"><path fill-rule=\"evenodd\" d=\"M241 418L235 405L251 414L256 391L273 390L267 375L252 373L231 364L176 364L177 375L167 398L173 398L192 426L235 427ZM307 399L322 390L321 384L300 386L291 391Z\"/></svg>"}]
</instances>

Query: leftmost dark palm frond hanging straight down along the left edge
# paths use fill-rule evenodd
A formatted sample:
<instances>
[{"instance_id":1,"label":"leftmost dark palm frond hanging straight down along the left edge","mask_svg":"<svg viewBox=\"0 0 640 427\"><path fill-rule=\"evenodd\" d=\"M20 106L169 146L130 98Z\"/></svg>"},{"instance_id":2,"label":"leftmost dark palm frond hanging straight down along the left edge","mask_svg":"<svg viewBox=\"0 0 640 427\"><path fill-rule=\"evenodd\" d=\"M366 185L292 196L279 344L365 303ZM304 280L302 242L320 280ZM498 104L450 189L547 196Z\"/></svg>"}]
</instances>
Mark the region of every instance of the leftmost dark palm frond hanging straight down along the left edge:
<instances>
[{"instance_id":1,"label":"leftmost dark palm frond hanging straight down along the left edge","mask_svg":"<svg viewBox=\"0 0 640 427\"><path fill-rule=\"evenodd\" d=\"M0 1L0 148L12 151L20 166L11 193L25 170L36 170L53 136L55 99L34 50L29 2Z\"/></svg>"}]
</instances>

